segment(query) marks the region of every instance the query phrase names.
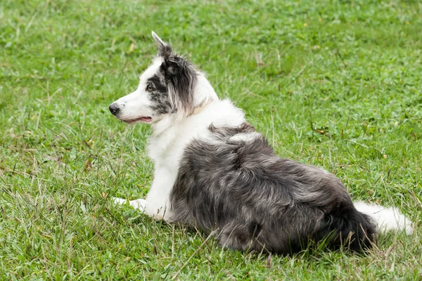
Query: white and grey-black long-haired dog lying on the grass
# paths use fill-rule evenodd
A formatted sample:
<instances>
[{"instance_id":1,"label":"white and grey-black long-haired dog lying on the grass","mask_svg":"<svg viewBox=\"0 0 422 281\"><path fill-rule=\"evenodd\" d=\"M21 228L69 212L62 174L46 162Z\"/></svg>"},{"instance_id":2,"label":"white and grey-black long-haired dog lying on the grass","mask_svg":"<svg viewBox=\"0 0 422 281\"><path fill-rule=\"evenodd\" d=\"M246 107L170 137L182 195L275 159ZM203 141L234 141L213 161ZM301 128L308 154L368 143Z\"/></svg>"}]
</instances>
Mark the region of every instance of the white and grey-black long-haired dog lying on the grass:
<instances>
[{"instance_id":1,"label":"white and grey-black long-haired dog lying on the grass","mask_svg":"<svg viewBox=\"0 0 422 281\"><path fill-rule=\"evenodd\" d=\"M138 89L109 107L123 122L153 128L153 183L132 207L213 230L223 247L280 254L321 240L360 251L379 230L412 232L397 209L353 203L332 174L274 155L242 110L219 100L202 72L153 38L158 55Z\"/></svg>"}]
</instances>

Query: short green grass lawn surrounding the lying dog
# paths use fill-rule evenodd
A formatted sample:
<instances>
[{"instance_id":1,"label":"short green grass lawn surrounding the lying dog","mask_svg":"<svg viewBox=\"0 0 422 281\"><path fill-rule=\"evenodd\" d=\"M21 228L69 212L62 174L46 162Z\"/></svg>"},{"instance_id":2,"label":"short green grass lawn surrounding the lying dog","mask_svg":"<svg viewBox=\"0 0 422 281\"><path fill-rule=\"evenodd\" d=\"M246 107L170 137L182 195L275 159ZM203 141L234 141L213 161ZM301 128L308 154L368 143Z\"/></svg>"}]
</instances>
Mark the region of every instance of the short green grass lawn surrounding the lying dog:
<instances>
[{"instance_id":1,"label":"short green grass lawn surrounding the lying dog","mask_svg":"<svg viewBox=\"0 0 422 281\"><path fill-rule=\"evenodd\" d=\"M1 280L421 280L420 1L0 2ZM150 129L108 105L155 54L208 74L282 157L395 205L369 254L267 256L115 207L145 195Z\"/></svg>"}]
</instances>

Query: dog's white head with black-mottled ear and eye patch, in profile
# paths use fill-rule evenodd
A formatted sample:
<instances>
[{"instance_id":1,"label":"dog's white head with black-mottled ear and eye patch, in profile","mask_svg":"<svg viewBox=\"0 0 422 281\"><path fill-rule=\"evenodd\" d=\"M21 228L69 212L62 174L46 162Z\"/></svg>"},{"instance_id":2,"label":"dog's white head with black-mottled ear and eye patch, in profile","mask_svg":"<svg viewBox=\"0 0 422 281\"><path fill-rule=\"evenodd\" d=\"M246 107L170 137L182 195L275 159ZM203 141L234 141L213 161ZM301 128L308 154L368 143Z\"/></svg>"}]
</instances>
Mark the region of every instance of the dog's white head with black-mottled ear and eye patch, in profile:
<instances>
[{"instance_id":1,"label":"dog's white head with black-mottled ear and eye patch, in profile","mask_svg":"<svg viewBox=\"0 0 422 281\"><path fill-rule=\"evenodd\" d=\"M172 47L153 32L158 55L140 77L136 91L119 98L110 112L127 123L153 123L165 115L186 117L194 110L197 72L191 63L172 53Z\"/></svg>"}]
</instances>

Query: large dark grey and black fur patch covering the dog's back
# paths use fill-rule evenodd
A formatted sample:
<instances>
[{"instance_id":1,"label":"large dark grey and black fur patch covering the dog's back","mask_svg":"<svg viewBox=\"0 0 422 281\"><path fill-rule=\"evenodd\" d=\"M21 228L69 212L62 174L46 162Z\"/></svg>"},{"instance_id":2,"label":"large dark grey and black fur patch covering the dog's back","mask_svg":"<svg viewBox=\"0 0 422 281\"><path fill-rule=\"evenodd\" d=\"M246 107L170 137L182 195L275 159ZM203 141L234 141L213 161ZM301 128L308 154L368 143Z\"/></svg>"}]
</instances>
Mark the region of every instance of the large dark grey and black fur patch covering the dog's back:
<instances>
[{"instance_id":1,"label":"large dark grey and black fur patch covering the dog's back","mask_svg":"<svg viewBox=\"0 0 422 281\"><path fill-rule=\"evenodd\" d=\"M331 248L371 247L375 226L332 174L274 155L263 136L210 126L214 141L194 140L171 195L172 221L219 230L224 247L285 254L326 240Z\"/></svg>"}]
</instances>

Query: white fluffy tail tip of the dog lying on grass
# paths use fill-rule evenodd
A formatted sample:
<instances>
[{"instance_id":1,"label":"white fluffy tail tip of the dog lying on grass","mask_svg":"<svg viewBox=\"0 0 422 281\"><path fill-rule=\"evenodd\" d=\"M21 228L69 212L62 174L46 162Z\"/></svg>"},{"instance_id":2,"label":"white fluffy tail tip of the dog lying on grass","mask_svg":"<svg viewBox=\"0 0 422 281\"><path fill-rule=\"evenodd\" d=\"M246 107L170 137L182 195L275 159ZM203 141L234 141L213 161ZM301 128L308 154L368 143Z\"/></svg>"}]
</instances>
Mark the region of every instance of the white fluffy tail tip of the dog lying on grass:
<instances>
[{"instance_id":1,"label":"white fluffy tail tip of the dog lying on grass","mask_svg":"<svg viewBox=\"0 0 422 281\"><path fill-rule=\"evenodd\" d=\"M376 223L378 232L402 231L407 235L413 233L412 223L409 218L404 216L394 207L383 207L375 204L366 204L364 202L354 202L357 211L371 217L373 223Z\"/></svg>"}]
</instances>

